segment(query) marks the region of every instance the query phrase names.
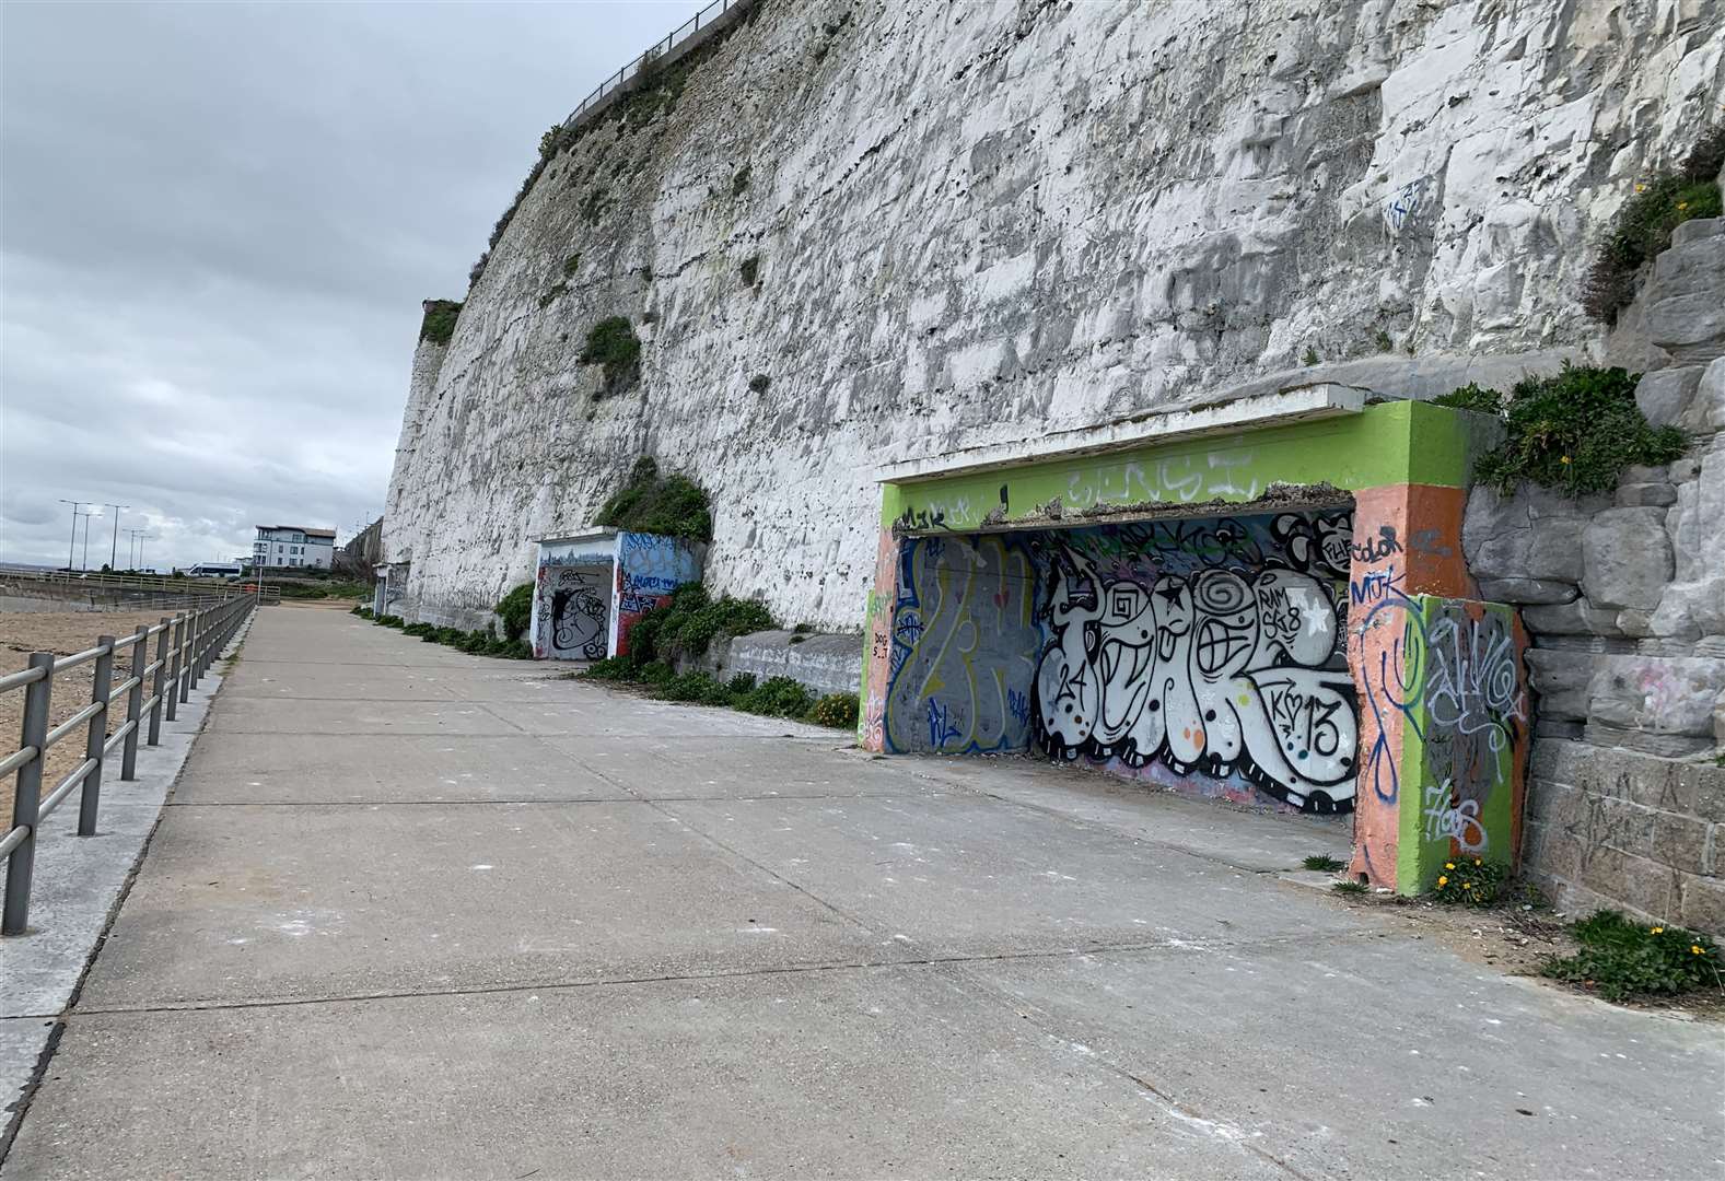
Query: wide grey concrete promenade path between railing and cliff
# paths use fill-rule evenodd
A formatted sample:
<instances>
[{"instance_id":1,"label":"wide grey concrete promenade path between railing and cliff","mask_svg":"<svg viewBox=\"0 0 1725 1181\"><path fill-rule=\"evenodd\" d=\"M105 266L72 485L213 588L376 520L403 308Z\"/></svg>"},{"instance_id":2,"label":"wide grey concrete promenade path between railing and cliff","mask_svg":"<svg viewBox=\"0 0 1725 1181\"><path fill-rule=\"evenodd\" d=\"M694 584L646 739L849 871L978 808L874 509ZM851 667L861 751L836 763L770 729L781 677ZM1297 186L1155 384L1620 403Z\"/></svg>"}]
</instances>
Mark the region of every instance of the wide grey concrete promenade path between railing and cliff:
<instances>
[{"instance_id":1,"label":"wide grey concrete promenade path between railing and cliff","mask_svg":"<svg viewBox=\"0 0 1725 1181\"><path fill-rule=\"evenodd\" d=\"M0 1176L1720 1176L1720 1026L1344 845L266 609Z\"/></svg>"}]
</instances>

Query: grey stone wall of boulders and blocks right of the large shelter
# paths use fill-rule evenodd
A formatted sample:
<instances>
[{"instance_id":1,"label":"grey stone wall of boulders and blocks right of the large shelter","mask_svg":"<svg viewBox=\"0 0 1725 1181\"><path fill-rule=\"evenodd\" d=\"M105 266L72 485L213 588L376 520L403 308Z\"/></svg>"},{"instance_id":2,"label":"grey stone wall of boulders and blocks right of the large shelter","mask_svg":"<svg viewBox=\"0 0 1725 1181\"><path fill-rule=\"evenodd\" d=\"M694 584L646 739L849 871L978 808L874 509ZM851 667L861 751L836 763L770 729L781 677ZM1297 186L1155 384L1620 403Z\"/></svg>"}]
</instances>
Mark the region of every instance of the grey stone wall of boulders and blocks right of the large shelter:
<instances>
[{"instance_id":1,"label":"grey stone wall of boulders and blocks right of the large shelter","mask_svg":"<svg viewBox=\"0 0 1725 1181\"><path fill-rule=\"evenodd\" d=\"M1527 872L1571 910L1725 931L1725 219L1685 222L1613 350L1689 452L1615 495L1477 488L1463 543L1485 598L1521 607L1537 691ZM1627 334L1639 338L1625 343Z\"/></svg>"}]
</instances>

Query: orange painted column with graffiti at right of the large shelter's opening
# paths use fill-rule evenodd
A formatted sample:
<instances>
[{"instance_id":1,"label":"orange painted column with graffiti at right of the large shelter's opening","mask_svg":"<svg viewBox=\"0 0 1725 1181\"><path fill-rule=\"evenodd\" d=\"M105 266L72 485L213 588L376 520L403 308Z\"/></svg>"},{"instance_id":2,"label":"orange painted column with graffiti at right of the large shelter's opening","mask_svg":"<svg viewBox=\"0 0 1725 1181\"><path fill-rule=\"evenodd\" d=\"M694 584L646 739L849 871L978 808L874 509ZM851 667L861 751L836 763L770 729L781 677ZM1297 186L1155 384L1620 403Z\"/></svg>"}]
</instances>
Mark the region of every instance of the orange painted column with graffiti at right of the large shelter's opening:
<instances>
[{"instance_id":1,"label":"orange painted column with graffiti at right of the large shelter's opening","mask_svg":"<svg viewBox=\"0 0 1725 1181\"><path fill-rule=\"evenodd\" d=\"M1425 655L1413 598L1478 595L1461 555L1466 500L1466 490L1435 484L1354 493L1347 667L1359 695L1359 778L1347 871L1375 886L1396 888L1401 807L1420 807L1420 784L1402 781L1402 728Z\"/></svg>"}]
</instances>

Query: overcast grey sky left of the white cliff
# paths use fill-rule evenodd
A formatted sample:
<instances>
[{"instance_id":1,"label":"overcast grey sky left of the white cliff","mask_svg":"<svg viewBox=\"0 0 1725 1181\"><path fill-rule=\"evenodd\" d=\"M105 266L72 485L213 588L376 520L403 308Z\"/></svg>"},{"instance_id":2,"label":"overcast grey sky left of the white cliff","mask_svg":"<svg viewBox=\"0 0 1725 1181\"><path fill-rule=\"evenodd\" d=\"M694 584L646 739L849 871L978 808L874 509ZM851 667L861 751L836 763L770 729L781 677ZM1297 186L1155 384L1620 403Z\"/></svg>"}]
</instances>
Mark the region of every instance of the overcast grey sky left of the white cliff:
<instances>
[{"instance_id":1,"label":"overcast grey sky left of the white cliff","mask_svg":"<svg viewBox=\"0 0 1725 1181\"><path fill-rule=\"evenodd\" d=\"M121 566L376 517L419 302L699 7L0 2L0 559L64 564L60 498Z\"/></svg>"}]
</instances>

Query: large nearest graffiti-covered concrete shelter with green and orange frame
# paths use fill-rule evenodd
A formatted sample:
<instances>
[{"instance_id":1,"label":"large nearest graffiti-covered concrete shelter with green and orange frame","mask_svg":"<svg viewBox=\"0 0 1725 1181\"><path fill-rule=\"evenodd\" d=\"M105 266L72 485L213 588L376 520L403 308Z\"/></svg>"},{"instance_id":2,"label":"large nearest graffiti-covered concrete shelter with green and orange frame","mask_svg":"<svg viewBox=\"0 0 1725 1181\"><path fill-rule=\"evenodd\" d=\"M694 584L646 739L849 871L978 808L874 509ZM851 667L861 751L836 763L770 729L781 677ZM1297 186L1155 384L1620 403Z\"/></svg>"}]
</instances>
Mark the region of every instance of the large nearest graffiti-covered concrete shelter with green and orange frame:
<instances>
[{"instance_id":1,"label":"large nearest graffiti-covered concrete shelter with green and orange frame","mask_svg":"<svg viewBox=\"0 0 1725 1181\"><path fill-rule=\"evenodd\" d=\"M1461 552L1494 431L1316 384L894 464L861 741L1351 814L1402 893L1513 864L1525 638Z\"/></svg>"}]
</instances>

